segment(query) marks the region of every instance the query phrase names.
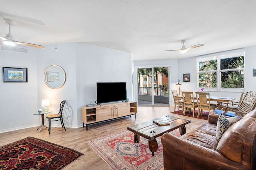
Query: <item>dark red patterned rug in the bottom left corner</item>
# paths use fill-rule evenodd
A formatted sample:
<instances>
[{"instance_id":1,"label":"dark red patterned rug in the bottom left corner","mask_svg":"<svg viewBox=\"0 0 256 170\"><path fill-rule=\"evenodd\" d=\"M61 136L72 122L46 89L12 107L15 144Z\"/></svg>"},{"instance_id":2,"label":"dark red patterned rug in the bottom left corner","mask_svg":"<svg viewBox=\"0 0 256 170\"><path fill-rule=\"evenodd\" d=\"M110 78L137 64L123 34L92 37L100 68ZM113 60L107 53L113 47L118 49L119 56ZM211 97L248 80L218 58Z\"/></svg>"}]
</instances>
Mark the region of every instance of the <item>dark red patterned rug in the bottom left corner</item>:
<instances>
[{"instance_id":1,"label":"dark red patterned rug in the bottom left corner","mask_svg":"<svg viewBox=\"0 0 256 170\"><path fill-rule=\"evenodd\" d=\"M0 170L60 170L82 153L27 137L0 147Z\"/></svg>"}]
</instances>

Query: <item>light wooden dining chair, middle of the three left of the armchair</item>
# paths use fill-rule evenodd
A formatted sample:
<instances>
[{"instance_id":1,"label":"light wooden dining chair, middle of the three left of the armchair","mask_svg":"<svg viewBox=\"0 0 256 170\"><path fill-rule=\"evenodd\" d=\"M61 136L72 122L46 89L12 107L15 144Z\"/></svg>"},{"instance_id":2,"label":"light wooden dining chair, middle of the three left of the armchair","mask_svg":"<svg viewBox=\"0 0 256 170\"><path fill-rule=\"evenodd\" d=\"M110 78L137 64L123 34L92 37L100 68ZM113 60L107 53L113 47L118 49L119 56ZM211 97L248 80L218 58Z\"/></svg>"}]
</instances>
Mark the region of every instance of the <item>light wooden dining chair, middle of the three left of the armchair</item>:
<instances>
[{"instance_id":1,"label":"light wooden dining chair, middle of the three left of the armchair","mask_svg":"<svg viewBox=\"0 0 256 170\"><path fill-rule=\"evenodd\" d=\"M193 109L193 117L195 117L195 108L198 107L197 102L194 100L193 92L182 92L184 109L183 115L185 115L187 108L189 113L191 113L191 109Z\"/></svg>"}]
</instances>

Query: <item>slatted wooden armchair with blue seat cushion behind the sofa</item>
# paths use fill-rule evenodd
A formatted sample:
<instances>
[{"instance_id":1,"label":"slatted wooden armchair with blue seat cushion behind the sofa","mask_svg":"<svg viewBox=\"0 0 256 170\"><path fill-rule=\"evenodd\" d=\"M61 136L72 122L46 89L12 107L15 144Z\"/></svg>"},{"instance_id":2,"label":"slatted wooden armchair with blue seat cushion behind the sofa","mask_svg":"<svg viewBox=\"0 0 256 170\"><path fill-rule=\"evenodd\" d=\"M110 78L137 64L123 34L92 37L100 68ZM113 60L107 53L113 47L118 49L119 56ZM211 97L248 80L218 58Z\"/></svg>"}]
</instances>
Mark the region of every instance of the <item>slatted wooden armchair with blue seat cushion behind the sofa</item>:
<instances>
[{"instance_id":1,"label":"slatted wooden armchair with blue seat cushion behind the sofa","mask_svg":"<svg viewBox=\"0 0 256 170\"><path fill-rule=\"evenodd\" d=\"M237 108L223 106L221 104L216 104L216 109L214 113L218 115L226 115L229 117L239 116L244 117L249 111L254 110L256 107L256 91L246 92L245 97L242 99L241 103Z\"/></svg>"}]
</instances>

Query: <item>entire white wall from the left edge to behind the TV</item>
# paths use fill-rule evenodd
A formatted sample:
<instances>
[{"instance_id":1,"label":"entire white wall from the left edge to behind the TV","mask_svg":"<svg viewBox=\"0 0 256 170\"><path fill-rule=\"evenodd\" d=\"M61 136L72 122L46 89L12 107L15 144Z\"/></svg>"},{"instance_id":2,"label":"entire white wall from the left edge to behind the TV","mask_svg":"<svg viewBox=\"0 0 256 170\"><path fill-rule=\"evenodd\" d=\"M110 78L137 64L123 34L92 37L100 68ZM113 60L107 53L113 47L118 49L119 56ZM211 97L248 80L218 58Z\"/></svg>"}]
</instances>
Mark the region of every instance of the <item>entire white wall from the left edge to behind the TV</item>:
<instances>
[{"instance_id":1,"label":"entire white wall from the left edge to behind the TV","mask_svg":"<svg viewBox=\"0 0 256 170\"><path fill-rule=\"evenodd\" d=\"M96 100L96 82L126 82L127 97L132 98L131 53L83 43L22 47L29 53L0 51L0 67L28 68L28 83L0 82L0 133L39 126L41 116L33 113L42 108L42 99L50 100L49 114L58 113L60 102L66 100L65 127L81 127L81 107ZM59 89L44 83L44 71L54 64L66 72L66 82ZM52 126L61 127L60 121Z\"/></svg>"}]
</instances>

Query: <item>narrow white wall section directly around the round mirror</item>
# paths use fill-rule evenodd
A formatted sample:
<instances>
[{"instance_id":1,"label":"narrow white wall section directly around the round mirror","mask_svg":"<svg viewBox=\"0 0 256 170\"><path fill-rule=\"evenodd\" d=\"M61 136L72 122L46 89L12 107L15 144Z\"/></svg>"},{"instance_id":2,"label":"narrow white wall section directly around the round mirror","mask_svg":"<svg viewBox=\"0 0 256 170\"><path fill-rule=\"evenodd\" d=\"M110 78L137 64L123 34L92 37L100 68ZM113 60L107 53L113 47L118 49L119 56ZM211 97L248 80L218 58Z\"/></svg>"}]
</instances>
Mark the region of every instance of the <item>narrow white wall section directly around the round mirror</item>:
<instances>
[{"instance_id":1,"label":"narrow white wall section directly around the round mirror","mask_svg":"<svg viewBox=\"0 0 256 170\"><path fill-rule=\"evenodd\" d=\"M44 71L50 65L59 65L66 72L66 82L58 89L46 86L44 82ZM45 45L45 49L38 53L38 104L41 108L42 99L50 100L49 114L57 114L60 102L66 100L64 107L64 125L66 127L77 127L76 111L76 43L65 43L56 45ZM48 121L46 119L45 125ZM52 122L52 126L61 127L60 121Z\"/></svg>"}]
</instances>

